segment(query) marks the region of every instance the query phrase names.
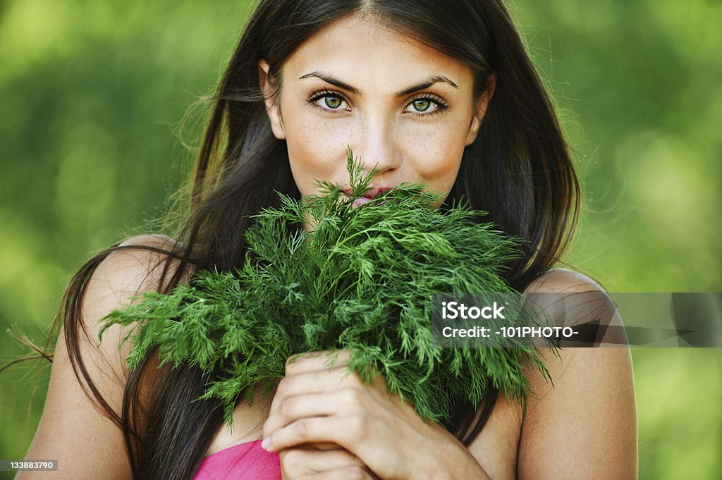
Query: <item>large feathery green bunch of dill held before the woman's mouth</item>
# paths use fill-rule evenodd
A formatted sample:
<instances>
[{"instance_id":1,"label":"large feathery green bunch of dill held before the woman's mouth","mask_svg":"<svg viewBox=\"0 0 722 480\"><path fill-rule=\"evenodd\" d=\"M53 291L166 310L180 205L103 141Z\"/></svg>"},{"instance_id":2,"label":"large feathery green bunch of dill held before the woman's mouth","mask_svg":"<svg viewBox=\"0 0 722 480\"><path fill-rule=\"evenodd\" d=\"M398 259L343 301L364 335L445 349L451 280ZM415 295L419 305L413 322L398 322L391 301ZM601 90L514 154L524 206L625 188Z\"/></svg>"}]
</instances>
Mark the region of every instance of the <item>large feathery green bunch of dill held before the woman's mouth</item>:
<instances>
[{"instance_id":1,"label":"large feathery green bunch of dill held before the woman's mouth","mask_svg":"<svg viewBox=\"0 0 722 480\"><path fill-rule=\"evenodd\" d=\"M255 385L283 378L288 357L333 349L351 350L349 372L365 383L383 374L423 418L449 419L454 401L479 404L490 385L523 401L522 360L546 373L533 346L440 348L430 320L434 293L511 292L500 273L518 243L474 221L482 211L431 208L440 198L417 184L354 207L373 172L362 175L350 150L348 169L351 198L319 182L323 194L281 195L280 208L258 214L242 269L199 271L110 313L103 331L137 327L129 367L156 346L162 363L200 367L201 398L217 398L229 423L239 396L253 401Z\"/></svg>"}]
</instances>

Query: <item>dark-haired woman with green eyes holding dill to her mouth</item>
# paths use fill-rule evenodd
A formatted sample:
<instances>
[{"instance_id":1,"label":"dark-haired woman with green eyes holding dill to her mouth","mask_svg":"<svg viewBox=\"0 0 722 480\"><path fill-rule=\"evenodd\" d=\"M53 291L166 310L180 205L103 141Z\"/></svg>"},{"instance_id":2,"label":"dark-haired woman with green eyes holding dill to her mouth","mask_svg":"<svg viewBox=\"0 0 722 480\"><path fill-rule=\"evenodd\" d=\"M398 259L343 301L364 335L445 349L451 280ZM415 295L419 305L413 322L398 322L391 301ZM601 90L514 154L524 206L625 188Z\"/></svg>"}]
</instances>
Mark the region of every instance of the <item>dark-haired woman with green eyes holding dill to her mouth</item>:
<instances>
[{"instance_id":1,"label":"dark-haired woman with green eyes holding dill to her mouth","mask_svg":"<svg viewBox=\"0 0 722 480\"><path fill-rule=\"evenodd\" d=\"M215 403L194 401L203 392L198 370L158 369L149 352L127 372L128 346L118 349L125 331L95 341L99 320L136 292L240 266L248 216L277 204L275 191L305 196L316 180L348 186L347 144L378 170L371 195L424 183L525 239L524 258L505 273L515 289L599 290L551 269L575 220L578 183L500 1L261 1L214 102L178 240L115 245L66 292L27 458L58 458L58 478L191 479L251 445L284 479L635 478L626 348L547 354L554 385L530 368L536 395L526 410L490 390L481 406L457 405L443 426L402 406L381 378L367 388L354 375L342 379L347 352L333 370L310 354L287 367L270 401L239 403L229 429Z\"/></svg>"}]
</instances>

